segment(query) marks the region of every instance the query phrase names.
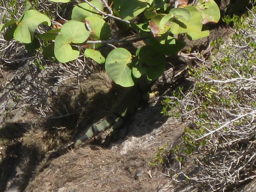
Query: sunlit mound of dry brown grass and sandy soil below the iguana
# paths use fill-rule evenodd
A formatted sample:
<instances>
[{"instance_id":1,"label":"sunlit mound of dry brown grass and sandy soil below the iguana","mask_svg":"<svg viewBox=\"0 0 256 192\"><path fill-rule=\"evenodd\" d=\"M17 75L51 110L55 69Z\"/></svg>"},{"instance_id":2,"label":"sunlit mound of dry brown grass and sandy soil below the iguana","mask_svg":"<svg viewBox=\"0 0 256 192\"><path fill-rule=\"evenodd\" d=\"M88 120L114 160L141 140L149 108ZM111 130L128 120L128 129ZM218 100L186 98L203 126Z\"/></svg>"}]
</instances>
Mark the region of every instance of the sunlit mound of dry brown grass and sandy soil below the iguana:
<instances>
[{"instance_id":1,"label":"sunlit mound of dry brown grass and sandy soil below the iguana","mask_svg":"<svg viewBox=\"0 0 256 192\"><path fill-rule=\"evenodd\" d=\"M26 191L156 191L166 178L158 172L161 168L151 166L150 162L158 146L164 146L180 133L176 125L167 122L111 149L90 146L70 150L38 173ZM136 178L140 172L141 177Z\"/></svg>"}]
</instances>

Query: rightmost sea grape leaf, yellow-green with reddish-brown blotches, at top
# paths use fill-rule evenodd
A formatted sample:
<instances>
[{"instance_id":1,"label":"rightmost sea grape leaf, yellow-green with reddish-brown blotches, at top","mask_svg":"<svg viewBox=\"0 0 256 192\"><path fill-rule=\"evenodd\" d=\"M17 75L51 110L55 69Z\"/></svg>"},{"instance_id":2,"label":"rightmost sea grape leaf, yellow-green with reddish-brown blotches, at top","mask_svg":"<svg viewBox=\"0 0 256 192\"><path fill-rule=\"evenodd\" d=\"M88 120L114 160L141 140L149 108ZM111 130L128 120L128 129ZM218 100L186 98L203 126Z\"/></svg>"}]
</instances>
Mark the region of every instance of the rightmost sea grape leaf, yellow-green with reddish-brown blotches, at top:
<instances>
[{"instance_id":1,"label":"rightmost sea grape leaf, yellow-green with reddish-brown blotches, at top","mask_svg":"<svg viewBox=\"0 0 256 192\"><path fill-rule=\"evenodd\" d=\"M203 24L208 22L218 23L220 20L220 9L214 0L198 1L196 4L197 10L201 12Z\"/></svg>"}]
</instances>

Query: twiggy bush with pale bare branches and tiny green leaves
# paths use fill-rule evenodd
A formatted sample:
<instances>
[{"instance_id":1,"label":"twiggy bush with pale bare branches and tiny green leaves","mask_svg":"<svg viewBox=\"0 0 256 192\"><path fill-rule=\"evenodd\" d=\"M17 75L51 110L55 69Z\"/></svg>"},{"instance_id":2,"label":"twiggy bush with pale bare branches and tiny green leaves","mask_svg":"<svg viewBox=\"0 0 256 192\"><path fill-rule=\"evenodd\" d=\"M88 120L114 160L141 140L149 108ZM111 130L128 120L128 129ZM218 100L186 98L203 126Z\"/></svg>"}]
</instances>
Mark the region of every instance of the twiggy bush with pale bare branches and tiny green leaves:
<instances>
[{"instance_id":1,"label":"twiggy bush with pale bare branches and tiny green leaves","mask_svg":"<svg viewBox=\"0 0 256 192\"><path fill-rule=\"evenodd\" d=\"M225 17L223 20L232 21L235 29L229 41L220 37L211 42L215 52L211 60L198 61L198 65L188 68L193 87L184 93L175 90L162 101L163 114L189 123L180 142L169 149L171 168L167 169L172 179L181 181L179 176L191 174L188 162L200 167L200 172L192 171L196 179L188 179L200 178L206 188L213 186L216 191L239 185L253 175L255 146L248 143L255 140L256 124L255 15L254 6L241 17ZM233 180L227 182L227 175L232 175Z\"/></svg>"}]
</instances>

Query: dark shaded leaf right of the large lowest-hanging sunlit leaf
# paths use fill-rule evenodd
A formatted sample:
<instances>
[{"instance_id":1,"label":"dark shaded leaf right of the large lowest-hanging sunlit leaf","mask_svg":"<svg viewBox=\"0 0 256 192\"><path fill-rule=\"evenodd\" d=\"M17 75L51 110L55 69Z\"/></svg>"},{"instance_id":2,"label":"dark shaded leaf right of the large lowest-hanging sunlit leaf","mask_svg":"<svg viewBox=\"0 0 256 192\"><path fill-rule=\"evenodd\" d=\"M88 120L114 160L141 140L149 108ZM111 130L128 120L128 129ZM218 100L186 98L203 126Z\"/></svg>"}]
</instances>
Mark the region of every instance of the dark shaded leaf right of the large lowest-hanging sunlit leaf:
<instances>
[{"instance_id":1,"label":"dark shaded leaf right of the large lowest-hanging sunlit leaf","mask_svg":"<svg viewBox=\"0 0 256 192\"><path fill-rule=\"evenodd\" d=\"M161 76L165 69L165 55L157 53L150 45L141 47L139 60L146 71L148 79L154 80Z\"/></svg>"}]
</instances>

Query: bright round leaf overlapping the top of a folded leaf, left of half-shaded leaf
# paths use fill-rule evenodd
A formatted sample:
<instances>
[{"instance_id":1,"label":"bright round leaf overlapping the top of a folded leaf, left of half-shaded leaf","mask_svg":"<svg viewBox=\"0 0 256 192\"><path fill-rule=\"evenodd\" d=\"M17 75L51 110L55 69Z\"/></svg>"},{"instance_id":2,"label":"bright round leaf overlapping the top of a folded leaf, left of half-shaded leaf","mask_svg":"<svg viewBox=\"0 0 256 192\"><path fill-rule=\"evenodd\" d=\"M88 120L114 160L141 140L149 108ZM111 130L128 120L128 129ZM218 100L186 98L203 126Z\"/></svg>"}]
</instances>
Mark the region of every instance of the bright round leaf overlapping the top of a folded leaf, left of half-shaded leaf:
<instances>
[{"instance_id":1,"label":"bright round leaf overlapping the top of a folded leaf, left of half-shaded leaf","mask_svg":"<svg viewBox=\"0 0 256 192\"><path fill-rule=\"evenodd\" d=\"M72 43L84 43L90 31L86 30L84 23L76 20L69 20L64 23L60 30L60 34L66 36Z\"/></svg>"}]
</instances>

